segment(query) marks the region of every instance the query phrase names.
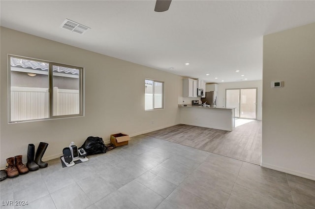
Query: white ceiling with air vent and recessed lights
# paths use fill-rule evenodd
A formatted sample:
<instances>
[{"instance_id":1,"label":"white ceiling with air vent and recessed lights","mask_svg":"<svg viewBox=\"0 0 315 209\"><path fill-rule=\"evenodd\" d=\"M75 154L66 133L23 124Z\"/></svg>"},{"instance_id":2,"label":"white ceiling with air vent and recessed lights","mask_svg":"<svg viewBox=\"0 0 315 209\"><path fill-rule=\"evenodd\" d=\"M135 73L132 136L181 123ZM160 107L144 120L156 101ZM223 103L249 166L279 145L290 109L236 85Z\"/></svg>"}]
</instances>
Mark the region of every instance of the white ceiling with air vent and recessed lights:
<instances>
[{"instance_id":1,"label":"white ceiling with air vent and recessed lights","mask_svg":"<svg viewBox=\"0 0 315 209\"><path fill-rule=\"evenodd\" d=\"M261 80L263 35L315 22L314 0L173 0L159 13L154 7L155 0L1 0L0 15L6 28L216 83ZM91 30L62 29L66 18Z\"/></svg>"}]
</instances>

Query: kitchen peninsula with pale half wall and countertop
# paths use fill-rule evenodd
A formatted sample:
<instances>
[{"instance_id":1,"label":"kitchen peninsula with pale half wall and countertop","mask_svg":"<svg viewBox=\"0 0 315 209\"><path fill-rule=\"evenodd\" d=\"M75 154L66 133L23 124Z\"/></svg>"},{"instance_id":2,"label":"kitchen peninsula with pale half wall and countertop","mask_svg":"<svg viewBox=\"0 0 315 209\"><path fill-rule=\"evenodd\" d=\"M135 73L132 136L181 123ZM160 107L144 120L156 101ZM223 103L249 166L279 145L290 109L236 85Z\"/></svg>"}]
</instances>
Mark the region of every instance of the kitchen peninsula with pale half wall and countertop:
<instances>
[{"instance_id":1,"label":"kitchen peninsula with pale half wall and countertop","mask_svg":"<svg viewBox=\"0 0 315 209\"><path fill-rule=\"evenodd\" d=\"M232 131L235 128L235 108L200 107L179 104L180 123Z\"/></svg>"}]
</instances>

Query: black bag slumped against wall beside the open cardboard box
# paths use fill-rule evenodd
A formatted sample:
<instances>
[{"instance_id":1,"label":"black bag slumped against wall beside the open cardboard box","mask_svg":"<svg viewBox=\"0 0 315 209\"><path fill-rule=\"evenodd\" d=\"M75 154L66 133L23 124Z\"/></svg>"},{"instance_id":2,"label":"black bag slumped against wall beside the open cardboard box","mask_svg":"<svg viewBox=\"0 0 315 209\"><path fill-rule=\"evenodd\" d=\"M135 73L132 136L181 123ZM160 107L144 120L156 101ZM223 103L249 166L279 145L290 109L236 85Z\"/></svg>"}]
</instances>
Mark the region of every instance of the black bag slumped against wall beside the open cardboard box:
<instances>
[{"instance_id":1,"label":"black bag slumped against wall beside the open cardboard box","mask_svg":"<svg viewBox=\"0 0 315 209\"><path fill-rule=\"evenodd\" d=\"M100 137L89 136L81 148L87 152L87 155L106 153L106 145Z\"/></svg>"}]
</instances>

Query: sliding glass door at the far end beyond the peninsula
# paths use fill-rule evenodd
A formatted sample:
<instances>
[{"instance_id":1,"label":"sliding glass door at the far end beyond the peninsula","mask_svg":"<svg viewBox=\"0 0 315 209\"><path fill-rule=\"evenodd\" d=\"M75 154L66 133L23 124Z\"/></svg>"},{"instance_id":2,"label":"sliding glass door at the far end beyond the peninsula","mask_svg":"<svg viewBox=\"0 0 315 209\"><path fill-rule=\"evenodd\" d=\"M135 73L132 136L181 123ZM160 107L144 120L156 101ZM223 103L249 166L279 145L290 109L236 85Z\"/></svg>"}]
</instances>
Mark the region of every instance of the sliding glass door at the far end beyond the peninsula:
<instances>
[{"instance_id":1,"label":"sliding glass door at the far end beyond the peninsula","mask_svg":"<svg viewBox=\"0 0 315 209\"><path fill-rule=\"evenodd\" d=\"M235 117L257 118L257 88L225 90L225 107L235 107Z\"/></svg>"}]
</instances>

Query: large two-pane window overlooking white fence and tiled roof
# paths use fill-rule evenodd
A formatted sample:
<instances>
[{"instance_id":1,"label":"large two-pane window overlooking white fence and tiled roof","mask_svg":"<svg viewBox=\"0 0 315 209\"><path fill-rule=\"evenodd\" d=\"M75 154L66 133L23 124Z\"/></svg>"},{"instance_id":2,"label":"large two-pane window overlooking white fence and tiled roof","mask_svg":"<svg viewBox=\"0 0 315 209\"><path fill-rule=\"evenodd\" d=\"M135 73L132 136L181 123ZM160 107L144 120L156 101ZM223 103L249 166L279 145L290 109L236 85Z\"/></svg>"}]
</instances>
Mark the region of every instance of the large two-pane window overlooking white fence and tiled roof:
<instances>
[{"instance_id":1,"label":"large two-pane window overlooking white fence and tiled roof","mask_svg":"<svg viewBox=\"0 0 315 209\"><path fill-rule=\"evenodd\" d=\"M8 56L9 122L83 116L83 68Z\"/></svg>"}]
</instances>

